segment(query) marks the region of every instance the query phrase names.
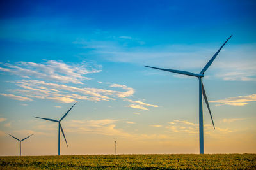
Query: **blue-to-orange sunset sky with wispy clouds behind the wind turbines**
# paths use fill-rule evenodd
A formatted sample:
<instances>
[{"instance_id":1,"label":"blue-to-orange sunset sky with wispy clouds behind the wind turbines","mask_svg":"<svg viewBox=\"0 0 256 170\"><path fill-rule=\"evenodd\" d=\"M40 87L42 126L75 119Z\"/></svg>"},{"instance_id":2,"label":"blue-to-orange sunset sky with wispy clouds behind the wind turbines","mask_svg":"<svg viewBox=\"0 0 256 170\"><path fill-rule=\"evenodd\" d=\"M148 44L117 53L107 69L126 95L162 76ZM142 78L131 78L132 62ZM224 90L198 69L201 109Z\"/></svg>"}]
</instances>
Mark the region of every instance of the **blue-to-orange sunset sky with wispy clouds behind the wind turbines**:
<instances>
[{"instance_id":1,"label":"blue-to-orange sunset sky with wispy clouds behind the wind turbines","mask_svg":"<svg viewBox=\"0 0 256 170\"><path fill-rule=\"evenodd\" d=\"M255 1L1 1L0 155L256 153Z\"/></svg>"}]
</instances>

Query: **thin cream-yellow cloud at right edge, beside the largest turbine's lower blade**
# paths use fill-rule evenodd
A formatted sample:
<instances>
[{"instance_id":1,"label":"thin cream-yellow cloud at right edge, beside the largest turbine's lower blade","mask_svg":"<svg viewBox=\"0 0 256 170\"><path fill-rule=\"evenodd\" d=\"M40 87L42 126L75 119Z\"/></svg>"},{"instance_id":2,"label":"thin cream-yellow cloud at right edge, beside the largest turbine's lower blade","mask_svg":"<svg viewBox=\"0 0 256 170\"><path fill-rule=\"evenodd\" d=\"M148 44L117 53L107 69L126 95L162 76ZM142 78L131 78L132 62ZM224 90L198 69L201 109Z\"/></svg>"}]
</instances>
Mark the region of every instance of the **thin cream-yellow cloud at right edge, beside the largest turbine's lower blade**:
<instances>
[{"instance_id":1,"label":"thin cream-yellow cloud at right edge, beside the largest turbine's lower blade","mask_svg":"<svg viewBox=\"0 0 256 170\"><path fill-rule=\"evenodd\" d=\"M250 94L248 96L228 97L227 99L221 99L221 100L210 101L210 102L220 103L220 104L216 104L216 106L221 106L221 105L244 106L246 104L252 103L253 101L256 101L256 94Z\"/></svg>"}]
</instances>

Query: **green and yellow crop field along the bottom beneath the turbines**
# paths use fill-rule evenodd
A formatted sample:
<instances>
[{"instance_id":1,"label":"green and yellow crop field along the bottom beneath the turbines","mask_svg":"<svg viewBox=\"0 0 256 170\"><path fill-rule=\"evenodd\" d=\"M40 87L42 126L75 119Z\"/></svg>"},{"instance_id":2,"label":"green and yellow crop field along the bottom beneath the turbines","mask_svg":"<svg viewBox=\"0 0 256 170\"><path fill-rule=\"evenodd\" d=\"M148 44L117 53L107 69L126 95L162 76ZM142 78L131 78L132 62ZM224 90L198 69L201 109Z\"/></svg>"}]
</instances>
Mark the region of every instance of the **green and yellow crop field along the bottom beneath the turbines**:
<instances>
[{"instance_id":1,"label":"green and yellow crop field along the bottom beneath the turbines","mask_svg":"<svg viewBox=\"0 0 256 170\"><path fill-rule=\"evenodd\" d=\"M256 154L0 157L0 169L256 169Z\"/></svg>"}]
</instances>

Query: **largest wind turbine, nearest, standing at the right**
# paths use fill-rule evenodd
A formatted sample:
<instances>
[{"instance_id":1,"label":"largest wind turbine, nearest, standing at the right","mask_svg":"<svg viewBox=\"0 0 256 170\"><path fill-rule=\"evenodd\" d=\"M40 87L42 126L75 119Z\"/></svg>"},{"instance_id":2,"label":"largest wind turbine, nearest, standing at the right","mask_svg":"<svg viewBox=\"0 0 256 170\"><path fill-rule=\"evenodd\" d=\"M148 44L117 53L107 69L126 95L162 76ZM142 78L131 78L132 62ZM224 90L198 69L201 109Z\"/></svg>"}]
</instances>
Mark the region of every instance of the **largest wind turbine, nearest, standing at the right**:
<instances>
[{"instance_id":1,"label":"largest wind turbine, nearest, standing at the right","mask_svg":"<svg viewBox=\"0 0 256 170\"><path fill-rule=\"evenodd\" d=\"M231 37L232 37L232 35L228 39L230 39ZM228 39L227 39L227 41L228 41ZM198 80L199 80L199 146L200 146L200 154L204 154L204 122L203 122L202 94L204 96L205 103L207 105L207 108L209 110L209 113L210 113L210 116L212 119L212 114L211 114L211 110L210 110L209 103L207 100L207 96L205 94L204 85L202 83L202 78L204 77L204 72L211 66L213 60L216 58L216 56L220 52L221 48L223 48L223 46L227 43L227 41L225 41L225 43L220 47L220 49L213 55L211 60L209 60L209 62L207 62L207 64L204 66L204 68L202 69L202 71L199 74L194 74L194 73L190 73L188 71L180 71L180 70L175 70L175 69L161 69L161 68L157 68L157 67L150 67L153 69L160 69L163 71L169 71L172 73L183 74L186 76L194 76L194 77L198 78ZM149 67L149 66L145 66L145 67ZM214 127L213 119L212 119L212 125ZM215 127L214 127L214 129L215 129Z\"/></svg>"}]
</instances>

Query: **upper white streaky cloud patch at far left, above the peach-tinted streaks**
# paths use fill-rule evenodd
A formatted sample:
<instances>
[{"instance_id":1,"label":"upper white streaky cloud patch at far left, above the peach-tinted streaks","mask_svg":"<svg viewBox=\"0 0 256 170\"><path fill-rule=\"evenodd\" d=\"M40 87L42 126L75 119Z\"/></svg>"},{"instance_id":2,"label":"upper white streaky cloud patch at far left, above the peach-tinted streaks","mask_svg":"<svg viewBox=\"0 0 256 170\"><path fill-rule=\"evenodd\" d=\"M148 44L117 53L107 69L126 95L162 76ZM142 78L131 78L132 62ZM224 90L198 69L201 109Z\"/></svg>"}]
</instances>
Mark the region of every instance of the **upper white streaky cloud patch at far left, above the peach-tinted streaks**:
<instances>
[{"instance_id":1,"label":"upper white streaky cloud patch at far left, above the peach-tinted streaks","mask_svg":"<svg viewBox=\"0 0 256 170\"><path fill-rule=\"evenodd\" d=\"M87 66L87 67L86 67ZM90 80L85 77L86 74L99 73L101 66L88 66L88 64L67 65L64 62L47 60L43 63L35 62L15 62L15 64L6 63L0 67L0 71L12 73L26 78L42 78L61 83L83 84L83 80Z\"/></svg>"}]
</instances>

